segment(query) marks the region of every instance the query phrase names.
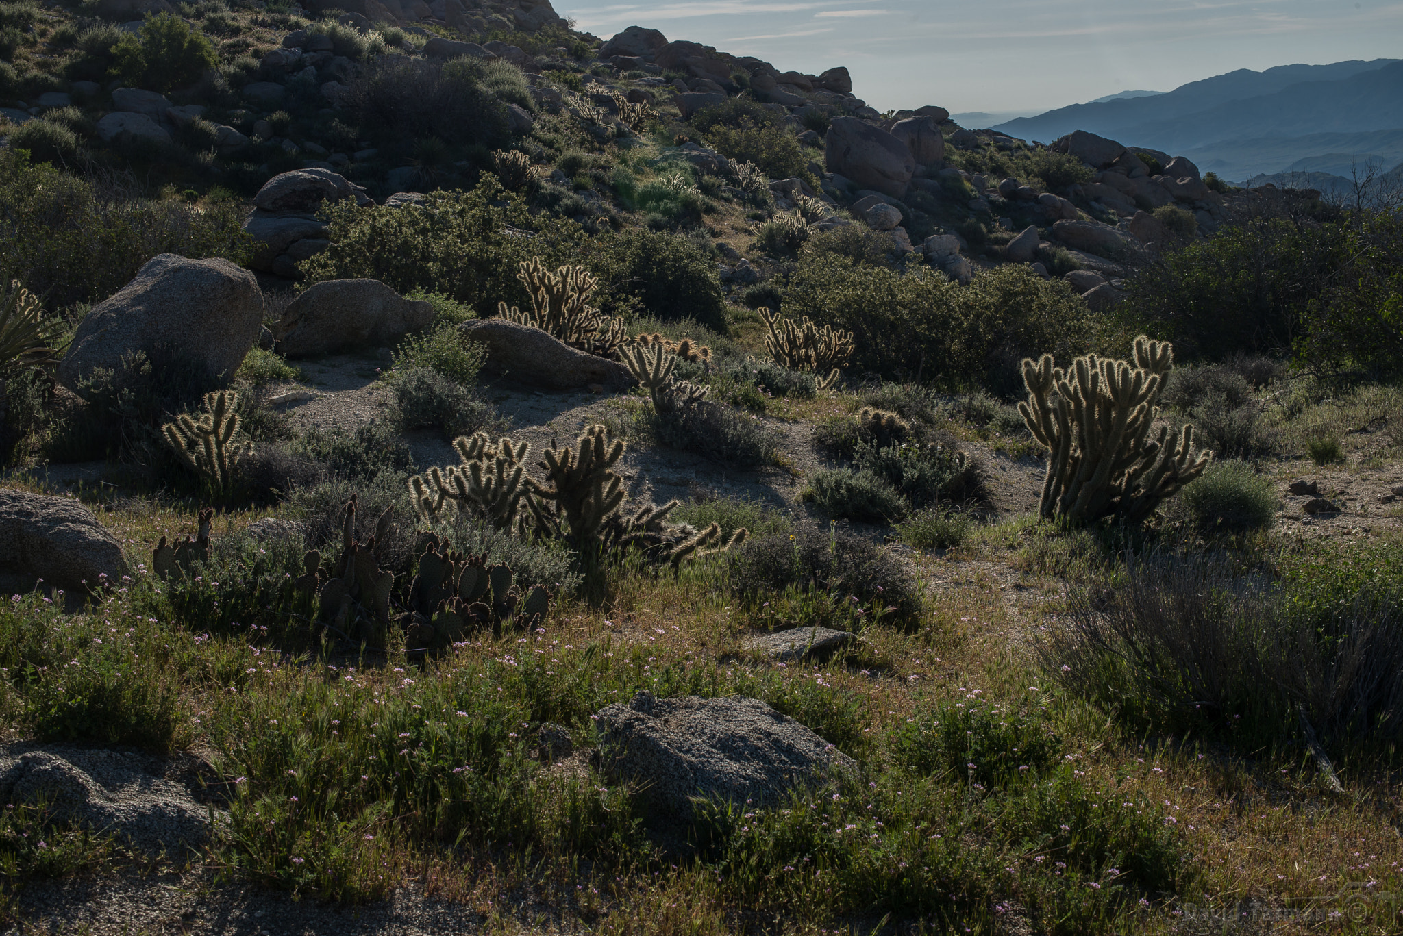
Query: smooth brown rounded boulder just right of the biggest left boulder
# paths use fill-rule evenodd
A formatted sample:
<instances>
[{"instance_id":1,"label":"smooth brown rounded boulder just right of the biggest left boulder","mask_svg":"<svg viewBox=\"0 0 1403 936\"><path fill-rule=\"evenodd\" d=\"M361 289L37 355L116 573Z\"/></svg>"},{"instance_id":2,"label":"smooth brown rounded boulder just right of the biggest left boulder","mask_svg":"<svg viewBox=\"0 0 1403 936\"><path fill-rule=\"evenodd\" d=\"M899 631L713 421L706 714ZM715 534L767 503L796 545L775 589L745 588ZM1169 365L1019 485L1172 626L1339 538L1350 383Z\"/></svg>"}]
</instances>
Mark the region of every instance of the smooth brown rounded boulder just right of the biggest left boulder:
<instances>
[{"instance_id":1,"label":"smooth brown rounded boulder just right of the biggest left boulder","mask_svg":"<svg viewBox=\"0 0 1403 936\"><path fill-rule=\"evenodd\" d=\"M288 303L278 351L313 358L354 348L397 344L434 321L434 306L404 299L379 279L328 279Z\"/></svg>"}]
</instances>

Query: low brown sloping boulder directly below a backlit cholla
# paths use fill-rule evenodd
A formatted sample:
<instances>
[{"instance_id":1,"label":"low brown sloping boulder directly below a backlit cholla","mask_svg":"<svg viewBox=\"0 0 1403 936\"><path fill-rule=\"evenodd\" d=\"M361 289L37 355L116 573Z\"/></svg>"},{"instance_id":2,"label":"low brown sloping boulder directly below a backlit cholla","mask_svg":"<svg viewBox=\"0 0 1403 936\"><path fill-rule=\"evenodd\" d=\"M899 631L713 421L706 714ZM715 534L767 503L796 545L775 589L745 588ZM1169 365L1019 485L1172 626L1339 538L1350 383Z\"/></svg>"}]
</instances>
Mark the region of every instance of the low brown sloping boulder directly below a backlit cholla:
<instances>
[{"instance_id":1,"label":"low brown sloping boulder directly below a backlit cholla","mask_svg":"<svg viewBox=\"0 0 1403 936\"><path fill-rule=\"evenodd\" d=\"M634 383L617 361L571 348L554 335L505 319L464 321L459 331L487 348L487 368L522 383L551 390L585 390L592 385L623 389Z\"/></svg>"}]
</instances>

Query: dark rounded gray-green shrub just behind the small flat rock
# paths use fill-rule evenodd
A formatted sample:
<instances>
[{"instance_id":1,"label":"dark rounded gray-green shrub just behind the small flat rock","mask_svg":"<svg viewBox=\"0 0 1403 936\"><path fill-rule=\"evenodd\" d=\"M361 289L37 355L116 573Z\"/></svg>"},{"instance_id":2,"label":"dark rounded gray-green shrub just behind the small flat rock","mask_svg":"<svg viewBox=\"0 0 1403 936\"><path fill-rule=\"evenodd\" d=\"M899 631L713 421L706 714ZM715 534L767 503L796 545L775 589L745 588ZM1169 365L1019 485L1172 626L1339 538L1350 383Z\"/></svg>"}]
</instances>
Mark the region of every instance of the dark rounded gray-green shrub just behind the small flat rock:
<instances>
[{"instance_id":1,"label":"dark rounded gray-green shrub just behind the small flat rock","mask_svg":"<svg viewBox=\"0 0 1403 936\"><path fill-rule=\"evenodd\" d=\"M891 554L836 526L812 522L790 533L752 536L735 550L731 584L737 594L765 601L787 587L819 588L859 598L881 596L902 615L916 610L915 582Z\"/></svg>"}]
</instances>

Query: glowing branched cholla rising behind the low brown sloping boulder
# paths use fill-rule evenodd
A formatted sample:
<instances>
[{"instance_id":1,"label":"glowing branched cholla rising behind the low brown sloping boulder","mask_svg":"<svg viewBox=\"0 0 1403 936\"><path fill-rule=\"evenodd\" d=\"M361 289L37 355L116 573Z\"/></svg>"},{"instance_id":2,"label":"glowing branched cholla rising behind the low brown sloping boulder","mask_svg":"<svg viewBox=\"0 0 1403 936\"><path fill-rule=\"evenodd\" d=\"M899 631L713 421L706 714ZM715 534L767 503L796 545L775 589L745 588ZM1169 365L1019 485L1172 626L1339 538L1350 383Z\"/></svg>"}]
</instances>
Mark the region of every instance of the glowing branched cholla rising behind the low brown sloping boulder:
<instances>
[{"instance_id":1,"label":"glowing branched cholla rising behind the low brown sloping boulder","mask_svg":"<svg viewBox=\"0 0 1403 936\"><path fill-rule=\"evenodd\" d=\"M522 312L499 302L499 317L540 328L572 348L602 356L612 355L627 340L622 319L589 307L589 297L599 289L599 278L584 267L561 267L550 272L540 257L533 257L522 264L516 278L530 293L532 307Z\"/></svg>"}]
</instances>

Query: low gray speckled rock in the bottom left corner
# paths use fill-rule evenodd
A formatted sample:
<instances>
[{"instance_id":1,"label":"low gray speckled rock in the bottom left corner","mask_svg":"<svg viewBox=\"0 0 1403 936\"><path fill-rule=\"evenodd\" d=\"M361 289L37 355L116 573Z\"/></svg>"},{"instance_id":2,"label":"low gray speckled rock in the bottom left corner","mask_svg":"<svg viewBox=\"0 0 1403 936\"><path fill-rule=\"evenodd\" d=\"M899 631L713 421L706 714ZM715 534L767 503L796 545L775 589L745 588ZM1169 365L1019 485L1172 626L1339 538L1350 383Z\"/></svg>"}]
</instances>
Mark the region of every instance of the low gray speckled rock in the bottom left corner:
<instances>
[{"instance_id":1,"label":"low gray speckled rock in the bottom left corner","mask_svg":"<svg viewBox=\"0 0 1403 936\"><path fill-rule=\"evenodd\" d=\"M59 821L146 850L196 846L209 832L209 813L178 783L153 770L153 758L119 751L45 745L0 752L0 801L43 801Z\"/></svg>"}]
</instances>

